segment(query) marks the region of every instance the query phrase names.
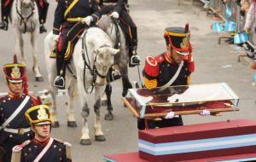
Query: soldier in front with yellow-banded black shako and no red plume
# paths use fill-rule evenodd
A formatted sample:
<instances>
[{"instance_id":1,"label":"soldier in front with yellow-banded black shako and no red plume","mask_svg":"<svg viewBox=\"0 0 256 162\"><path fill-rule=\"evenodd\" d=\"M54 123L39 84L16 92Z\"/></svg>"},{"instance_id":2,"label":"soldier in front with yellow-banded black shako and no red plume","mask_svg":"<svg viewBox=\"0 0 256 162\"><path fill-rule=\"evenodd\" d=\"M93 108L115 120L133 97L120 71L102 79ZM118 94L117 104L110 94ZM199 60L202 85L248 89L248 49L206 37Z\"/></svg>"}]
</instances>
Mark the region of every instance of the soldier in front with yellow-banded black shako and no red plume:
<instances>
[{"instance_id":1,"label":"soldier in front with yellow-banded black shako and no red plume","mask_svg":"<svg viewBox=\"0 0 256 162\"><path fill-rule=\"evenodd\" d=\"M49 136L52 122L49 107L31 107L25 115L35 137L13 148L11 162L71 162L71 144Z\"/></svg>"}]
</instances>

